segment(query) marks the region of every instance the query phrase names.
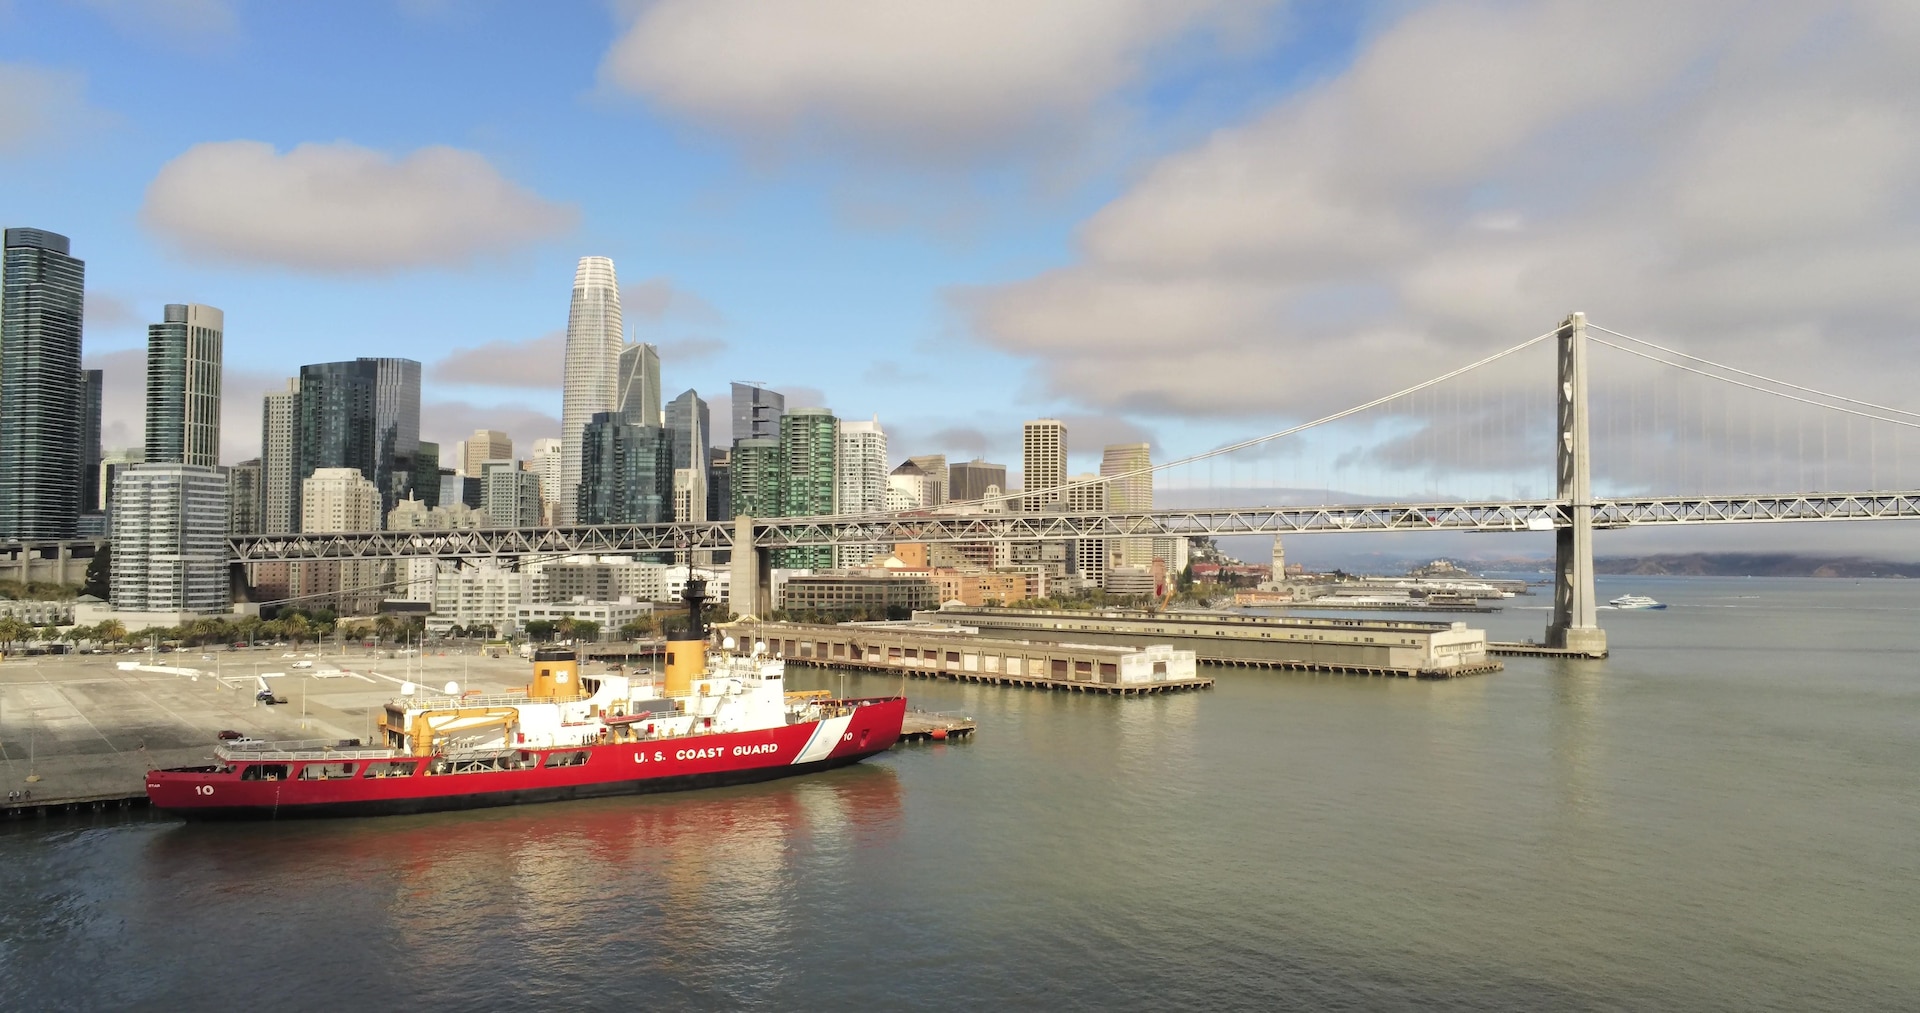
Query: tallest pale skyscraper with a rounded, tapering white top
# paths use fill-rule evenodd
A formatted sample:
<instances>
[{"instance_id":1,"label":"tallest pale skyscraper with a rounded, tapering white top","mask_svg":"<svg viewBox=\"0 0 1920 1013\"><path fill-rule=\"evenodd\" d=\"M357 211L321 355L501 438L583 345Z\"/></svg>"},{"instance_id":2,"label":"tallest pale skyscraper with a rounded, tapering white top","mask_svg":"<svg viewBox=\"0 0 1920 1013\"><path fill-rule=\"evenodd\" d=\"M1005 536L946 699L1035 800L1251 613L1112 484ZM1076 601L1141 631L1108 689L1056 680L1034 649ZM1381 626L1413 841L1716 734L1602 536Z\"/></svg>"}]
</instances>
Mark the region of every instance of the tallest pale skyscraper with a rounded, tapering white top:
<instances>
[{"instance_id":1,"label":"tallest pale skyscraper with a rounded, tapering white top","mask_svg":"<svg viewBox=\"0 0 1920 1013\"><path fill-rule=\"evenodd\" d=\"M557 524L574 524L580 491L580 436L588 422L616 411L620 395L620 280L607 257L580 257L566 313L566 366L561 389L561 489Z\"/></svg>"}]
</instances>

